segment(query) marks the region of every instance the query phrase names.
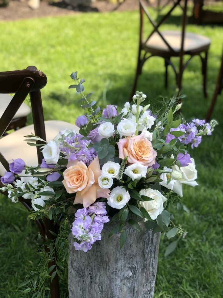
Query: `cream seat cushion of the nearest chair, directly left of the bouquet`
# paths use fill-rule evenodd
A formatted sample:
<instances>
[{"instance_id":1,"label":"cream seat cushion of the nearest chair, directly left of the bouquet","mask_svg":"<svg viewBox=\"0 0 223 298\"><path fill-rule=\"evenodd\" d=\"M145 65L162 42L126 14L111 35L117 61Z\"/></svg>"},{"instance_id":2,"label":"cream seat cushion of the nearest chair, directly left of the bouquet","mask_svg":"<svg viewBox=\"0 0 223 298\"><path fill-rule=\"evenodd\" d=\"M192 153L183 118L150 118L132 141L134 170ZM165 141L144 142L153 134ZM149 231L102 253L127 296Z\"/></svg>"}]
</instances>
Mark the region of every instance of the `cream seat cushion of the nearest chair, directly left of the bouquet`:
<instances>
[{"instance_id":1,"label":"cream seat cushion of the nearest chair, directly left of the bouquet","mask_svg":"<svg viewBox=\"0 0 223 298\"><path fill-rule=\"evenodd\" d=\"M75 129L78 132L79 128L76 125L64 121L45 121L47 141L52 140L63 129ZM37 166L38 159L36 147L29 146L24 141L25 135L30 135L34 132L34 126L29 125L12 132L0 139L0 152L10 163L12 159L22 158L27 166ZM5 168L0 163L0 175L4 175Z\"/></svg>"}]
</instances>

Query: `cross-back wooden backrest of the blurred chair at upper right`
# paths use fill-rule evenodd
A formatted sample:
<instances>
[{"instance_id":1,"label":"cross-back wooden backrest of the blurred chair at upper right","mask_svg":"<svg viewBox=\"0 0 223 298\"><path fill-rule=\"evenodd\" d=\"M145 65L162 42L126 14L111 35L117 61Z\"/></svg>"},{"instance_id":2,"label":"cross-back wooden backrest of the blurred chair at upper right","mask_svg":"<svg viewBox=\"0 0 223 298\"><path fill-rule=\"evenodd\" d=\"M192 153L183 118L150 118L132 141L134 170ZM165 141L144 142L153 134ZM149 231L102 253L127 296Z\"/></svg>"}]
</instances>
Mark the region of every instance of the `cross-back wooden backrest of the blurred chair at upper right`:
<instances>
[{"instance_id":1,"label":"cross-back wooden backrest of the blurred chair at upper right","mask_svg":"<svg viewBox=\"0 0 223 298\"><path fill-rule=\"evenodd\" d=\"M156 23L150 16L147 7L145 5L145 2L143 0L139 0L139 9L140 9L140 44L146 43L151 36L156 32L160 36L160 38L163 40L163 42L166 44L170 52L176 53L176 51L171 47L171 45L168 43L168 41L165 39L165 37L162 35L161 31L159 30L159 27L161 24L171 15L173 10L177 7L180 6L183 15L182 15L182 28L181 28L181 50L180 50L180 55L183 55L184 51L184 39L185 39L185 27L187 23L187 2L188 0L175 0L174 4L171 6L171 8L168 10L168 12L161 18L161 20ZM147 18L149 19L150 23L153 26L152 32L148 35L147 39L143 41L143 15L146 15Z\"/></svg>"}]
</instances>

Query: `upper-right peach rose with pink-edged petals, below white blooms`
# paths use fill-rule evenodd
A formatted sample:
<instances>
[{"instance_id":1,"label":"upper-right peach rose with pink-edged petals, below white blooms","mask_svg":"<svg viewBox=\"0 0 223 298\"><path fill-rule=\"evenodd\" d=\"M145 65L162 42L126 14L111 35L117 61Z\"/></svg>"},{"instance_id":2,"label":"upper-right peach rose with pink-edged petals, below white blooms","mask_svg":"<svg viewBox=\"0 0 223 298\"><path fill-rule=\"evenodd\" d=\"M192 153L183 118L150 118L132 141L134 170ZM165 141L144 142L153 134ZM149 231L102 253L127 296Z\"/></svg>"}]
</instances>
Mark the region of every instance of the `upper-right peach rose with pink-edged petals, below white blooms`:
<instances>
[{"instance_id":1,"label":"upper-right peach rose with pink-edged petals, below white blooms","mask_svg":"<svg viewBox=\"0 0 223 298\"><path fill-rule=\"evenodd\" d=\"M128 156L128 163L141 163L144 166L155 164L157 152L144 134L120 139L118 144L119 158Z\"/></svg>"}]
</instances>

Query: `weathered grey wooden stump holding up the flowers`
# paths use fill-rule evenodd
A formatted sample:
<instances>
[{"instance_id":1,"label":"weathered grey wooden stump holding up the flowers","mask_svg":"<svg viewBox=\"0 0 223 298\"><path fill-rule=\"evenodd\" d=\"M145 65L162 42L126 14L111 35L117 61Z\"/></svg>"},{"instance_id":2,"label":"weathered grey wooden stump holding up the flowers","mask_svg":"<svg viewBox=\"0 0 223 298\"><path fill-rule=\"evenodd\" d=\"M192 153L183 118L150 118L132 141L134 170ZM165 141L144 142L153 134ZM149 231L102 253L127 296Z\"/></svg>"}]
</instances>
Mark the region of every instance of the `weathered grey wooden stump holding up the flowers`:
<instances>
[{"instance_id":1,"label":"weathered grey wooden stump holding up the flowers","mask_svg":"<svg viewBox=\"0 0 223 298\"><path fill-rule=\"evenodd\" d=\"M114 225L105 224L102 240L88 252L75 251L69 235L69 298L152 298L160 233L152 235L141 223L142 234L129 227L119 249L120 233L108 238Z\"/></svg>"}]
</instances>

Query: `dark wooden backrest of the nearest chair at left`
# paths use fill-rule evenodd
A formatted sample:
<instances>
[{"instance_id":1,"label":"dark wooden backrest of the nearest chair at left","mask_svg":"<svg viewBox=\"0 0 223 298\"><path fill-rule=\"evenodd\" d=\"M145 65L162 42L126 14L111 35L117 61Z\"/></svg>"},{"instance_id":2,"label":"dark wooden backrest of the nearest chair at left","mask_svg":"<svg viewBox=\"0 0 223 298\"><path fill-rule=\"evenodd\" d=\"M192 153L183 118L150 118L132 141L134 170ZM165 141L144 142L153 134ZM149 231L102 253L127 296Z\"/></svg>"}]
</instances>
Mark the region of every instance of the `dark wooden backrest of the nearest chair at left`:
<instances>
[{"instance_id":1,"label":"dark wooden backrest of the nearest chair at left","mask_svg":"<svg viewBox=\"0 0 223 298\"><path fill-rule=\"evenodd\" d=\"M47 83L47 77L35 66L29 66L24 70L0 72L0 93L15 93L2 117L0 118L0 137L6 131L15 113L29 94L35 135L46 140L45 124L43 117L42 99L40 89ZM41 142L40 142L41 143ZM38 163L42 162L42 152L36 147ZM8 161L1 153L0 163L9 170Z\"/></svg>"}]
</instances>

